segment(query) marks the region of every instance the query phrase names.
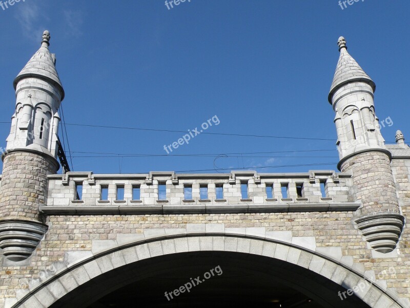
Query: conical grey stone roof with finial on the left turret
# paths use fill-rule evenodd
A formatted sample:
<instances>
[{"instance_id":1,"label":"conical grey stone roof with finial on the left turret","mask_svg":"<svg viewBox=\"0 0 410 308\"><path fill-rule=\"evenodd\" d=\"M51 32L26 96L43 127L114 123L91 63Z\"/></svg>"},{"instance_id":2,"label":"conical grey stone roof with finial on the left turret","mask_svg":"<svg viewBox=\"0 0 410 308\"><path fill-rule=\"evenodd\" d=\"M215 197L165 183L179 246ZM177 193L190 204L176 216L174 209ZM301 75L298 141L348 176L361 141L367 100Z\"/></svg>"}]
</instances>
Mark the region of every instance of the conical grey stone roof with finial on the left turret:
<instances>
[{"instance_id":1,"label":"conical grey stone roof with finial on the left turret","mask_svg":"<svg viewBox=\"0 0 410 308\"><path fill-rule=\"evenodd\" d=\"M61 85L61 81L58 77L57 70L55 69L55 55L50 53L48 49L50 45L50 32L44 31L43 41L41 47L31 57L26 66L18 73L14 79L14 89L17 87L17 83L25 78L38 78L51 82L54 84L61 94L61 101L64 99L64 89Z\"/></svg>"}]
</instances>

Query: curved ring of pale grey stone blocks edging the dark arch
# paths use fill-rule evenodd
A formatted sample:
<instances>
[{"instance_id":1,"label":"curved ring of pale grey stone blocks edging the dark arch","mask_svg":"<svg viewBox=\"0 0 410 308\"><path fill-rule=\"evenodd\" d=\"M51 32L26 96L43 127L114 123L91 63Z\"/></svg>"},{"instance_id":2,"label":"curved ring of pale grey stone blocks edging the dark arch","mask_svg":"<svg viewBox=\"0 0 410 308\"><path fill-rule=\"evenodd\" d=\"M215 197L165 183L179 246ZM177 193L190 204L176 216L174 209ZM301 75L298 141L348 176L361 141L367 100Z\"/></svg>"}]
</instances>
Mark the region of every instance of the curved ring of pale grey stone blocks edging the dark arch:
<instances>
[{"instance_id":1,"label":"curved ring of pale grey stone blocks edging the dark arch","mask_svg":"<svg viewBox=\"0 0 410 308\"><path fill-rule=\"evenodd\" d=\"M405 308L394 295L369 282L353 268L310 249L264 236L258 238L246 234L181 234L127 243L110 249L56 272L55 276L30 290L12 307L48 308L81 285L101 275L114 274L115 269L122 266L165 255L214 251L259 255L280 260L309 269L346 289L352 288L356 297L372 308Z\"/></svg>"}]
</instances>

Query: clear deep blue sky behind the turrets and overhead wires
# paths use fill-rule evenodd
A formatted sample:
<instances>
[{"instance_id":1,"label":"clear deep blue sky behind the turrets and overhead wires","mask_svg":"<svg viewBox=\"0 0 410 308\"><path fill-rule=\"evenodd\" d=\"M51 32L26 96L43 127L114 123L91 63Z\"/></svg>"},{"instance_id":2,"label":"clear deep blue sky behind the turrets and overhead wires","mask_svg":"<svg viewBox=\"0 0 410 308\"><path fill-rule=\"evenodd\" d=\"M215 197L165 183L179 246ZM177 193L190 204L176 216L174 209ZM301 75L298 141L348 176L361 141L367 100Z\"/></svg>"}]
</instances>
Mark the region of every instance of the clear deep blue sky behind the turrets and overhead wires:
<instances>
[{"instance_id":1,"label":"clear deep blue sky behind the turrets and overhead wires","mask_svg":"<svg viewBox=\"0 0 410 308\"><path fill-rule=\"evenodd\" d=\"M170 10L162 0L21 0L0 8L0 122L10 121L13 79L48 29L75 171L336 169L327 94L340 35L376 83L376 114L391 119L384 139L397 129L410 138L409 11L399 0L343 10L336 0L187 0ZM209 119L210 134L167 154L164 145ZM2 147L9 129L0 123Z\"/></svg>"}]
</instances>

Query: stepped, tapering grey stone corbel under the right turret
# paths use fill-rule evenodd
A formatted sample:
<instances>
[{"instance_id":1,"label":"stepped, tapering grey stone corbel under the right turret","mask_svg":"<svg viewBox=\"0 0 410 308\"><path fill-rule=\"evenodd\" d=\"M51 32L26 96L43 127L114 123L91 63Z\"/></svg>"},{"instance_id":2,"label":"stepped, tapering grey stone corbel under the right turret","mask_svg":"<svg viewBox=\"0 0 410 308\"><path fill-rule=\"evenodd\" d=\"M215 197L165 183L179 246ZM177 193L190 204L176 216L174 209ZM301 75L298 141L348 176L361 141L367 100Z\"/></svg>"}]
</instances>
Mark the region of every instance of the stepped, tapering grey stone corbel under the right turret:
<instances>
[{"instance_id":1,"label":"stepped, tapering grey stone corbel under the right turret","mask_svg":"<svg viewBox=\"0 0 410 308\"><path fill-rule=\"evenodd\" d=\"M363 236L375 251L389 253L396 248L404 225L398 213L380 212L364 215L355 220Z\"/></svg>"}]
</instances>

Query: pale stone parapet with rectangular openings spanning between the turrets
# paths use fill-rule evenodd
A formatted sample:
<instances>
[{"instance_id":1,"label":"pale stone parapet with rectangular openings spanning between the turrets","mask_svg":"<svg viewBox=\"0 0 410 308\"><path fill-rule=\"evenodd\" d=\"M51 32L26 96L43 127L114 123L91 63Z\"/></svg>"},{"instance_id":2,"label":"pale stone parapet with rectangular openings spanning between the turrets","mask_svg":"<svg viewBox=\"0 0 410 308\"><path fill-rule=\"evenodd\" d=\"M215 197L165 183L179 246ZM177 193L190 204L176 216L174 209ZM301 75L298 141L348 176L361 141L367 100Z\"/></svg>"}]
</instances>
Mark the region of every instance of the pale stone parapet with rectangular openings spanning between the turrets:
<instances>
[{"instance_id":1,"label":"pale stone parapet with rectangular openings spanning between the turrets","mask_svg":"<svg viewBox=\"0 0 410 308\"><path fill-rule=\"evenodd\" d=\"M274 213L355 210L350 174L306 173L50 175L40 209L63 214Z\"/></svg>"}]
</instances>

